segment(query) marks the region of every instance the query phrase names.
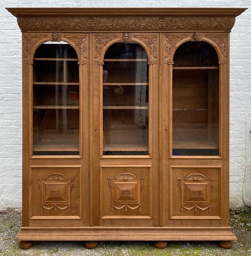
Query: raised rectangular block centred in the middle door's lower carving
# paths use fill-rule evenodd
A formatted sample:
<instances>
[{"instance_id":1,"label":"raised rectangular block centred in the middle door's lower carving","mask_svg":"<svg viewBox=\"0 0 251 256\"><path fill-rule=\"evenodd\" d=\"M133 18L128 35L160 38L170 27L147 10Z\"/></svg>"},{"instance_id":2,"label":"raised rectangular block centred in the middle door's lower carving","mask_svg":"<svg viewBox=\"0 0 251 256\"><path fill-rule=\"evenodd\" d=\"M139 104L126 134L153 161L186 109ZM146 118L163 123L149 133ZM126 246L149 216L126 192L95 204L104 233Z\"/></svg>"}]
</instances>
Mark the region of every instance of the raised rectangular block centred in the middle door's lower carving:
<instances>
[{"instance_id":1,"label":"raised rectangular block centred in the middle door's lower carving","mask_svg":"<svg viewBox=\"0 0 251 256\"><path fill-rule=\"evenodd\" d=\"M140 180L113 181L112 204L140 204Z\"/></svg>"}]
</instances>

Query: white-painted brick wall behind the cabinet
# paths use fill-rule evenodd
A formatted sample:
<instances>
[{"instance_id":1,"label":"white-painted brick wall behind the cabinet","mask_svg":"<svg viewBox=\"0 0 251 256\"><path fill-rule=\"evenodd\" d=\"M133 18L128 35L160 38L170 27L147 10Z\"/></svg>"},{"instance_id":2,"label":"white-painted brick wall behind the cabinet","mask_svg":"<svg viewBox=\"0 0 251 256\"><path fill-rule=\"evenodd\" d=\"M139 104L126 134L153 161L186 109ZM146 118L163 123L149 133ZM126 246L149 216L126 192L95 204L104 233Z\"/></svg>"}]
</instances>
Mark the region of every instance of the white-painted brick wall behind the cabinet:
<instances>
[{"instance_id":1,"label":"white-painted brick wall behind the cabinet","mask_svg":"<svg viewBox=\"0 0 251 256\"><path fill-rule=\"evenodd\" d=\"M237 17L231 33L230 204L243 206L245 149L247 166L251 164L251 0L40 0L39 4L34 0L1 0L0 7L0 209L21 206L21 32L6 7L249 8ZM251 175L247 178L245 191L250 203Z\"/></svg>"}]
</instances>

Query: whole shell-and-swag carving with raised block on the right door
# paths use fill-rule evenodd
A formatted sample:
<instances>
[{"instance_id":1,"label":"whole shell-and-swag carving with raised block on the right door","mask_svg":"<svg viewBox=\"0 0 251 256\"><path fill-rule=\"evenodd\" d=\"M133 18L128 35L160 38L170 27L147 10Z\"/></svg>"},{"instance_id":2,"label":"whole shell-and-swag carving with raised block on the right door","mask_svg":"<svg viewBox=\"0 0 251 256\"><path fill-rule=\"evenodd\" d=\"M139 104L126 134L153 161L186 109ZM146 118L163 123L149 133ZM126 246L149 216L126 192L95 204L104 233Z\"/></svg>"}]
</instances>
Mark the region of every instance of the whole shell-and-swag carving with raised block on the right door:
<instances>
[{"instance_id":1,"label":"whole shell-and-swag carving with raised block on the right door","mask_svg":"<svg viewBox=\"0 0 251 256\"><path fill-rule=\"evenodd\" d=\"M197 209L202 211L211 211L211 192L214 187L214 180L202 174L187 175L184 180L177 177L178 188L181 193L180 210L192 210L196 212Z\"/></svg>"}]
</instances>

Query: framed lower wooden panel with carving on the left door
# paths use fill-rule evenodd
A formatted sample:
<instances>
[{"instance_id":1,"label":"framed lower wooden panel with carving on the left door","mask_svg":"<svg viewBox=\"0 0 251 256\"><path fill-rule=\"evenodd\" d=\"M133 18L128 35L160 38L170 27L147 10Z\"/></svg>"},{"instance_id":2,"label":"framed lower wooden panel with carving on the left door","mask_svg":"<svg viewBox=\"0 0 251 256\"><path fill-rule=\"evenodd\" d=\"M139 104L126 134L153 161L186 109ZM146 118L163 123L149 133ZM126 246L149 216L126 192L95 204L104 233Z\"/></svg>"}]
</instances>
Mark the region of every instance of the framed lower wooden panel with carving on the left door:
<instances>
[{"instance_id":1,"label":"framed lower wooden panel with carving on the left door","mask_svg":"<svg viewBox=\"0 0 251 256\"><path fill-rule=\"evenodd\" d=\"M30 166L31 222L41 221L44 226L45 223L50 222L49 220L53 220L54 223L62 225L62 220L81 219L81 167L81 165ZM76 221L74 223L76 224Z\"/></svg>"}]
</instances>

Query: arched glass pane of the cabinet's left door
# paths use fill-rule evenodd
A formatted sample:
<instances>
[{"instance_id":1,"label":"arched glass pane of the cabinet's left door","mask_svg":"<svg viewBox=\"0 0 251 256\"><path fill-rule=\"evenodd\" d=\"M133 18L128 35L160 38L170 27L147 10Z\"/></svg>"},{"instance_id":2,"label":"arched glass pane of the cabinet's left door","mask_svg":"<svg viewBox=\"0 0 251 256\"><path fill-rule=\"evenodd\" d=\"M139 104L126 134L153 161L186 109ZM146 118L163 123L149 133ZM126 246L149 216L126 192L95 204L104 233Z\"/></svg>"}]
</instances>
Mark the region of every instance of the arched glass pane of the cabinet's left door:
<instances>
[{"instance_id":1,"label":"arched glass pane of the cabinet's left door","mask_svg":"<svg viewBox=\"0 0 251 256\"><path fill-rule=\"evenodd\" d=\"M33 155L79 155L79 66L69 44L45 43L34 56Z\"/></svg>"}]
</instances>

